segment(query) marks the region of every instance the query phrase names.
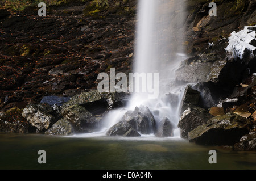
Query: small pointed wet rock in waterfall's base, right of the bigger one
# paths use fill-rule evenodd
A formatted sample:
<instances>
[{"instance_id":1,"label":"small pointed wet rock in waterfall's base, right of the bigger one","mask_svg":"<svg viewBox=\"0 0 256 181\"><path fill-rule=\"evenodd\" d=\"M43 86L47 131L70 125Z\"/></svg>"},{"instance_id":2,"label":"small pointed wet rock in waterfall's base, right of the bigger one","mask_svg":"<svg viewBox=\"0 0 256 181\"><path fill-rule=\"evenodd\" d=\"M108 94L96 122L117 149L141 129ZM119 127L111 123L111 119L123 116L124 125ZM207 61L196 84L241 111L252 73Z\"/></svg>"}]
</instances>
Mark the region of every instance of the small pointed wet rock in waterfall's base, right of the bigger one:
<instances>
[{"instance_id":1,"label":"small pointed wet rock in waterfall's base, right of the bigger one","mask_svg":"<svg viewBox=\"0 0 256 181\"><path fill-rule=\"evenodd\" d=\"M164 117L158 126L155 136L156 137L170 137L173 134L174 125L172 125L171 121Z\"/></svg>"}]
</instances>

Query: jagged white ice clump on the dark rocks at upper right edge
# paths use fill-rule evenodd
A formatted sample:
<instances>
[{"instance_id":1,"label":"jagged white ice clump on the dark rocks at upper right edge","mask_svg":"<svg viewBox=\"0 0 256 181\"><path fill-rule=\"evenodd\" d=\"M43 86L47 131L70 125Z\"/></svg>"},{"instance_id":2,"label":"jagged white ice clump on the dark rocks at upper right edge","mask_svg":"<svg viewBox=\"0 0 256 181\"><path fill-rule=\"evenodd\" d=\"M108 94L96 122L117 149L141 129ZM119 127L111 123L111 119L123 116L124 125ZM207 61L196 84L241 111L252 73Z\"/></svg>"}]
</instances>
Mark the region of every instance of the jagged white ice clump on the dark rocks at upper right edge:
<instances>
[{"instance_id":1,"label":"jagged white ice clump on the dark rocks at upper right edge","mask_svg":"<svg viewBox=\"0 0 256 181\"><path fill-rule=\"evenodd\" d=\"M229 45L226 47L226 53L232 58L242 59L245 50L251 52L251 58L255 57L254 50L255 46L252 42L256 40L256 26L245 26L245 28L239 32L233 31L229 37Z\"/></svg>"}]
</instances>

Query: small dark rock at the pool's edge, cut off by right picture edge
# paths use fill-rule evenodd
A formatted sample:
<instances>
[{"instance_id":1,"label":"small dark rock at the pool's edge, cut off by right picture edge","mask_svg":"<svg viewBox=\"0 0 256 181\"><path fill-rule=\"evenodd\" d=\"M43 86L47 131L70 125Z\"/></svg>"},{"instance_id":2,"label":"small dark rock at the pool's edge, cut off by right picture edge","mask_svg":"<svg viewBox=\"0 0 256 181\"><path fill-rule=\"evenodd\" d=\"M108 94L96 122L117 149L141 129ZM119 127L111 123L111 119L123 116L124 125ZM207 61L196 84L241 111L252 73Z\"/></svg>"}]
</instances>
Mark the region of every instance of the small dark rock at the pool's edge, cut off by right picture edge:
<instances>
[{"instance_id":1,"label":"small dark rock at the pool's edge, cut off by right picture edge","mask_svg":"<svg viewBox=\"0 0 256 181\"><path fill-rule=\"evenodd\" d=\"M250 132L242 136L240 142L234 144L234 150L255 151L256 150L256 132Z\"/></svg>"}]
</instances>

